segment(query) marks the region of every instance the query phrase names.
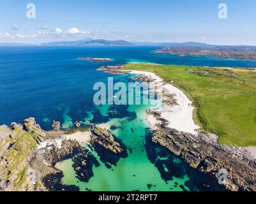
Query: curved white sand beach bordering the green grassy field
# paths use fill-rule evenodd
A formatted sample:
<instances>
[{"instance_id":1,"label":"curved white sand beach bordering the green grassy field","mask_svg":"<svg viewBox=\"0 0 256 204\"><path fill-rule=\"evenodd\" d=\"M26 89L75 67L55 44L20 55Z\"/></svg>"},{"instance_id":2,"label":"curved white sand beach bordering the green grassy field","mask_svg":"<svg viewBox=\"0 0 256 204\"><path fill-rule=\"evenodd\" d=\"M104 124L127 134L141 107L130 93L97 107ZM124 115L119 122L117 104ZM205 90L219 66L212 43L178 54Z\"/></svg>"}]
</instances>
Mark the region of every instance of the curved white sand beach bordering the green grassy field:
<instances>
[{"instance_id":1,"label":"curved white sand beach bordering the green grassy field","mask_svg":"<svg viewBox=\"0 0 256 204\"><path fill-rule=\"evenodd\" d=\"M154 82L158 85L162 85L162 89L168 94L175 94L174 98L178 105L168 106L163 103L160 108L157 108L161 113L163 119L170 122L169 127L183 131L186 133L197 134L196 129L200 127L193 121L193 109L192 101L188 99L183 91L174 87L171 84L165 84L162 78L156 76L154 73L147 71L129 71L129 73L136 75L146 75L148 78L154 79ZM153 117L147 118L149 124L156 124L156 120Z\"/></svg>"}]
</instances>

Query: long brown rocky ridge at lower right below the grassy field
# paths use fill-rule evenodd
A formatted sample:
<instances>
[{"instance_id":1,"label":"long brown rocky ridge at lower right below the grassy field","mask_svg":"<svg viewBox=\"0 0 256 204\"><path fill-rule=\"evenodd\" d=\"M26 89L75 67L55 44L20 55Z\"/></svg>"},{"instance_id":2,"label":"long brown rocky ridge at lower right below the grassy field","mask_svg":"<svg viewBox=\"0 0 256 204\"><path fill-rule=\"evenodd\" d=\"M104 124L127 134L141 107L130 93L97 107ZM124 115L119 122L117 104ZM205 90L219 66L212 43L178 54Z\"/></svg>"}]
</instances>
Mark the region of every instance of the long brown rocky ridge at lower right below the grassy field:
<instances>
[{"instance_id":1,"label":"long brown rocky ridge at lower right below the grassy field","mask_svg":"<svg viewBox=\"0 0 256 204\"><path fill-rule=\"evenodd\" d=\"M217 181L220 171L226 170L223 185L230 191L256 191L256 162L244 149L218 145L207 135L192 135L166 126L156 130L152 140Z\"/></svg>"}]
</instances>

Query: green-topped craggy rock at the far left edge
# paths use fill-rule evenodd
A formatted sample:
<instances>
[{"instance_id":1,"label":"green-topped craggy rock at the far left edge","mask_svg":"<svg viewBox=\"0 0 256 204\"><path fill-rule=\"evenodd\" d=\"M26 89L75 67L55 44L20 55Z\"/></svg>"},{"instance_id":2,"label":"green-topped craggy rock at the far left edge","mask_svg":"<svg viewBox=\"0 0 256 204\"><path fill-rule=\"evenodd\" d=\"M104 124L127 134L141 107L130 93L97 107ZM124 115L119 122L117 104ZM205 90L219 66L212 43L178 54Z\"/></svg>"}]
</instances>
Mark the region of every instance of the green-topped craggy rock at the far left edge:
<instances>
[{"instance_id":1,"label":"green-topped craggy rock at the far left edge","mask_svg":"<svg viewBox=\"0 0 256 204\"><path fill-rule=\"evenodd\" d=\"M43 191L30 161L44 131L31 117L22 125L0 126L0 135L0 191Z\"/></svg>"}]
</instances>

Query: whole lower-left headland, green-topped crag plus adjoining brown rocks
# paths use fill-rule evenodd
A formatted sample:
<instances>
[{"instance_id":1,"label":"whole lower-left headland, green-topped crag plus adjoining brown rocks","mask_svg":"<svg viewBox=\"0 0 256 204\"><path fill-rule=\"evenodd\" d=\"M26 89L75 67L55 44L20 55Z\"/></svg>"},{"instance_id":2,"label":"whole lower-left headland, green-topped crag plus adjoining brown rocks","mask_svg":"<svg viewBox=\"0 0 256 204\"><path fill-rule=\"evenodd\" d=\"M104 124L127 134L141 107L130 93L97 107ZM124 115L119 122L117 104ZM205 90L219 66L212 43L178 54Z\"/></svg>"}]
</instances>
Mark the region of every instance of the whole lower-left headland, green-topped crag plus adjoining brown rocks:
<instances>
[{"instance_id":1,"label":"whole lower-left headland, green-topped crag plus adjoining brown rocks","mask_svg":"<svg viewBox=\"0 0 256 204\"><path fill-rule=\"evenodd\" d=\"M60 181L62 172L54 165L87 150L63 131L43 131L33 117L22 124L0 126L0 191L47 191ZM54 180L51 180L54 179ZM56 191L77 190L60 182Z\"/></svg>"}]
</instances>

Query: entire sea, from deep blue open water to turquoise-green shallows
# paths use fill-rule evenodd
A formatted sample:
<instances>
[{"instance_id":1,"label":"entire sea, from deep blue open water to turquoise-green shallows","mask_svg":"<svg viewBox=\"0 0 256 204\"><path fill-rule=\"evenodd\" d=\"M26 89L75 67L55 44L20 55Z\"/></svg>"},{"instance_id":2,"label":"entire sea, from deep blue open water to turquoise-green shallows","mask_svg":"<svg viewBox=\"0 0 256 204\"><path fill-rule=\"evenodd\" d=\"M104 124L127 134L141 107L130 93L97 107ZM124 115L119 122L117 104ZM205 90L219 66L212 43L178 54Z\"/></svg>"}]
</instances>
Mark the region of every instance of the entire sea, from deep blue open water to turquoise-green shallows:
<instances>
[{"instance_id":1,"label":"entire sea, from deep blue open water to turquoise-green shallows","mask_svg":"<svg viewBox=\"0 0 256 204\"><path fill-rule=\"evenodd\" d=\"M211 178L190 168L182 159L151 142L146 109L149 105L93 103L93 85L107 82L103 65L151 62L192 66L256 67L256 61L179 57L153 54L160 47L0 47L0 124L35 117L43 129L59 120L63 129L105 124L121 139L128 157L110 168L94 149L100 166L93 167L89 182L77 179L72 159L57 163L62 183L81 191L211 191L222 190ZM79 61L77 57L107 57L112 62ZM130 75L114 76L114 82L130 82ZM113 128L114 127L114 128Z\"/></svg>"}]
</instances>

